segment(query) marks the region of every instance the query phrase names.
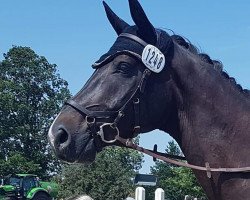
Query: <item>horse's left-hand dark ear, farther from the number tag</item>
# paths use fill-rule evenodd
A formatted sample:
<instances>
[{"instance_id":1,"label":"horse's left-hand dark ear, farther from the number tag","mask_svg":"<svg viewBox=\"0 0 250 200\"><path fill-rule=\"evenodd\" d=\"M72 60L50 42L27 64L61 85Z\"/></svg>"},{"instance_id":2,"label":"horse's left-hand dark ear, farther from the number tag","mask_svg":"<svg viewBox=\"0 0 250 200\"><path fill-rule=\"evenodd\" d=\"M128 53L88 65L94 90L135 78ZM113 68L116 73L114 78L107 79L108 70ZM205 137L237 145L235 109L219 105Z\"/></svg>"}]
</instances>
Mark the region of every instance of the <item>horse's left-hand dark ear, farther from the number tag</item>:
<instances>
[{"instance_id":1,"label":"horse's left-hand dark ear, farther from the number tag","mask_svg":"<svg viewBox=\"0 0 250 200\"><path fill-rule=\"evenodd\" d=\"M112 27L116 31L117 35L120 35L122 31L128 27L129 25L123 21L121 18L119 18L108 6L108 4L103 1L103 6L106 11L106 15L108 17L109 22L111 23Z\"/></svg>"}]
</instances>

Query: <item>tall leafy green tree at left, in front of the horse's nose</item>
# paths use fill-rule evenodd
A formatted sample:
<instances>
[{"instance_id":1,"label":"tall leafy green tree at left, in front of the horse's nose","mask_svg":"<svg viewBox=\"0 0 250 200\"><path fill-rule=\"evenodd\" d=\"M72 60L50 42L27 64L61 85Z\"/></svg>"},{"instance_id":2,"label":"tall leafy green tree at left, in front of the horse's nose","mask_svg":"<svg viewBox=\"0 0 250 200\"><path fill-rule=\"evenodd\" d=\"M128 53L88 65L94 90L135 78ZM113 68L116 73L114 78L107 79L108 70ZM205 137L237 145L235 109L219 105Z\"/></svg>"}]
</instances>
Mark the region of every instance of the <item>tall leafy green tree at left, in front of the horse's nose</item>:
<instances>
[{"instance_id":1,"label":"tall leafy green tree at left, in front of the horse's nose","mask_svg":"<svg viewBox=\"0 0 250 200\"><path fill-rule=\"evenodd\" d=\"M58 169L47 142L52 119L70 96L57 66L28 47L11 48L0 62L0 163L44 177ZM12 162L16 159L17 163ZM11 165L11 166L10 166ZM38 167L39 166L39 167ZM27 167L20 167L20 173ZM1 171L6 175L10 171ZM14 172L14 171L11 171Z\"/></svg>"}]
</instances>

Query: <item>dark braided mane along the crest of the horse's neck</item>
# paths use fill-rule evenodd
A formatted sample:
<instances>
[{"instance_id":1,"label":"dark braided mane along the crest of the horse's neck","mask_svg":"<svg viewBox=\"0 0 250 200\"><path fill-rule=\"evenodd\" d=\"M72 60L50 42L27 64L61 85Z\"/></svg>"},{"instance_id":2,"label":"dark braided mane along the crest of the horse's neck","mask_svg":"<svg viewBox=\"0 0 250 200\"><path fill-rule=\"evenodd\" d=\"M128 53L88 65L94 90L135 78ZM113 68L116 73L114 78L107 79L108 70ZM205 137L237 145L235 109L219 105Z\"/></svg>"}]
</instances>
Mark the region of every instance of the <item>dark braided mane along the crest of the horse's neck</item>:
<instances>
[{"instance_id":1,"label":"dark braided mane along the crest of the horse's neck","mask_svg":"<svg viewBox=\"0 0 250 200\"><path fill-rule=\"evenodd\" d=\"M210 58L209 55L205 53L201 53L196 46L194 46L190 41L187 41L187 39L184 39L180 35L172 35L171 38L180 46L187 49L191 53L197 55L202 61L210 64L216 71L218 71L223 77L228 79L233 85L235 85L238 90L245 94L250 95L250 90L243 89L240 84L237 84L235 78L230 77L227 72L223 71L223 64L221 61L213 60Z\"/></svg>"}]
</instances>

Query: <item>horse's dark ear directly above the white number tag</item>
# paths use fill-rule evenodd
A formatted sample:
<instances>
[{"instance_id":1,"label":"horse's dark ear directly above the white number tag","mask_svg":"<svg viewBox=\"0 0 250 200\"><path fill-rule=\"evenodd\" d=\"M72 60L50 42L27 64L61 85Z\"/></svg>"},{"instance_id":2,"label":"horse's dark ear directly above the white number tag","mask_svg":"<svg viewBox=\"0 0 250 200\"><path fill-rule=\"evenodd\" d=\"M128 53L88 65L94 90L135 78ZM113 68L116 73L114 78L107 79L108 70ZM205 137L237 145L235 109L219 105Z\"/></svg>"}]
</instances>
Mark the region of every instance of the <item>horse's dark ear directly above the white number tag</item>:
<instances>
[{"instance_id":1,"label":"horse's dark ear directly above the white number tag","mask_svg":"<svg viewBox=\"0 0 250 200\"><path fill-rule=\"evenodd\" d=\"M138 34L148 43L156 44L157 35L154 26L148 20L138 0L129 0L131 16L138 27Z\"/></svg>"}]
</instances>

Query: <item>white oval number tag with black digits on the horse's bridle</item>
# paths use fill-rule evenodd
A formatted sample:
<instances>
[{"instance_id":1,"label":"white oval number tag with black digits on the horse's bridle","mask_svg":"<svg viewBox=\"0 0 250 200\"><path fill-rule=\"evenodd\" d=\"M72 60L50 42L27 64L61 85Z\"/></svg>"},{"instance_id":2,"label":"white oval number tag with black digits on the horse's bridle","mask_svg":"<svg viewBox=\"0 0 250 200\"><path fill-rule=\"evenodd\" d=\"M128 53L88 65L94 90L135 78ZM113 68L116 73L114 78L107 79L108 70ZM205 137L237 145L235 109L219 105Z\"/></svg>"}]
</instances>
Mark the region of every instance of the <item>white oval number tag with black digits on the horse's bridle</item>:
<instances>
[{"instance_id":1,"label":"white oval number tag with black digits on the horse's bridle","mask_svg":"<svg viewBox=\"0 0 250 200\"><path fill-rule=\"evenodd\" d=\"M159 73L165 66L165 56L157 47L148 44L142 52L142 62L151 71Z\"/></svg>"}]
</instances>

